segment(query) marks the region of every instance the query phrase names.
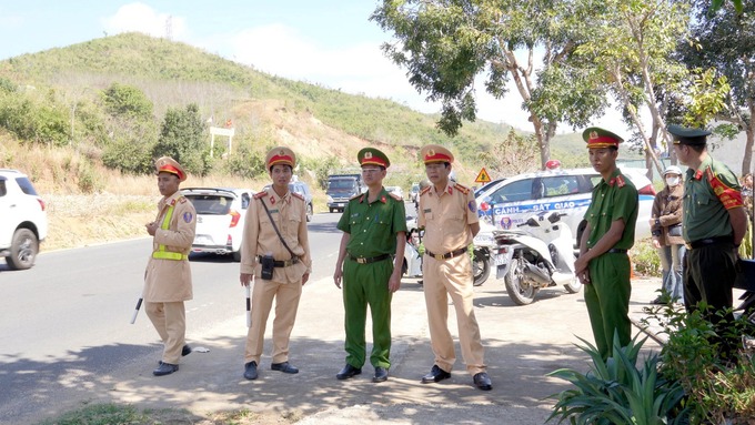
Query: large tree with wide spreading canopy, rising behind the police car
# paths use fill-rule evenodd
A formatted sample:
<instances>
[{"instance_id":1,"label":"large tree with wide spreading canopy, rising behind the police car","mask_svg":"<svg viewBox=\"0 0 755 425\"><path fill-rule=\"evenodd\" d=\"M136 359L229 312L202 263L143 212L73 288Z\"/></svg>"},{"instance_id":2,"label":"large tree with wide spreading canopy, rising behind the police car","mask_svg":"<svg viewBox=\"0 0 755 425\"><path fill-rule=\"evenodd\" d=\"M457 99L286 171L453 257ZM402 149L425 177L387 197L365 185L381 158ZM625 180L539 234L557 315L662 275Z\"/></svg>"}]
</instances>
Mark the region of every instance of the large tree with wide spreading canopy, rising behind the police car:
<instances>
[{"instance_id":1,"label":"large tree with wide spreading canopy, rising behind the police car","mask_svg":"<svg viewBox=\"0 0 755 425\"><path fill-rule=\"evenodd\" d=\"M383 50L407 69L409 81L427 100L442 103L439 128L454 135L463 120L474 121L475 78L485 73L485 90L506 94L513 80L530 112L541 166L550 159L550 142L558 121L585 125L605 107L597 84L567 63L582 33L590 28L593 0L383 0L372 14L395 43ZM536 72L535 51L542 50ZM526 53L521 61L517 52ZM580 80L570 79L580 75ZM567 93L557 97L553 93Z\"/></svg>"}]
</instances>

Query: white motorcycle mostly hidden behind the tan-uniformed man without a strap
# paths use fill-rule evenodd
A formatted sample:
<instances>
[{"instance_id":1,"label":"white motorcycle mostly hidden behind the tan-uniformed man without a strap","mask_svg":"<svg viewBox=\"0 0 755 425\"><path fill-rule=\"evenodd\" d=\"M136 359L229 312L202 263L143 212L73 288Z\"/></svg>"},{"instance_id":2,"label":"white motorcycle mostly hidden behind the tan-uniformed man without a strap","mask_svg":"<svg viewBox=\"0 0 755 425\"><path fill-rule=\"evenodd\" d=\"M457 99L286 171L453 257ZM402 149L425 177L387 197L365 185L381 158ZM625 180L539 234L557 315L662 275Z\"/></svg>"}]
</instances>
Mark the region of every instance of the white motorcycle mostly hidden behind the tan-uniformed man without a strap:
<instances>
[{"instance_id":1,"label":"white motorcycle mostly hidden behind the tan-uniformed man without a strap","mask_svg":"<svg viewBox=\"0 0 755 425\"><path fill-rule=\"evenodd\" d=\"M416 219L413 216L406 217L406 249L404 250L403 274L407 277L422 277L422 234L424 231L417 229ZM493 229L491 226L491 229ZM483 232L481 231L480 234ZM480 244L480 245L479 245ZM474 240L474 250L472 254L472 284L480 286L490 276L491 272L491 249L495 245L495 240L492 237L492 232L489 230L486 236ZM422 281L420 281L422 284Z\"/></svg>"}]
</instances>

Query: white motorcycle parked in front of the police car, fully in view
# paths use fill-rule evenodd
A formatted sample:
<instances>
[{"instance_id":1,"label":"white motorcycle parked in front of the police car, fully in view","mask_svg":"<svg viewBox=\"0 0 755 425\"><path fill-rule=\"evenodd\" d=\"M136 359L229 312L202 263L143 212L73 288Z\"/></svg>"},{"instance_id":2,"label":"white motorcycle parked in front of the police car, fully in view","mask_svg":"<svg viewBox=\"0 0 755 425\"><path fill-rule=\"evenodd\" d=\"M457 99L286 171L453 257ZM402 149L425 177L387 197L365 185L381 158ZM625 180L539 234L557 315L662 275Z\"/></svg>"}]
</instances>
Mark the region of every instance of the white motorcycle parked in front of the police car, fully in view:
<instances>
[{"instance_id":1,"label":"white motorcycle parked in front of the police car, fully in view","mask_svg":"<svg viewBox=\"0 0 755 425\"><path fill-rule=\"evenodd\" d=\"M537 292L548 286L564 285L571 294L580 292L572 230L561 220L565 215L542 211L517 224L519 229L493 232L496 279L503 277L515 304L531 304Z\"/></svg>"}]
</instances>

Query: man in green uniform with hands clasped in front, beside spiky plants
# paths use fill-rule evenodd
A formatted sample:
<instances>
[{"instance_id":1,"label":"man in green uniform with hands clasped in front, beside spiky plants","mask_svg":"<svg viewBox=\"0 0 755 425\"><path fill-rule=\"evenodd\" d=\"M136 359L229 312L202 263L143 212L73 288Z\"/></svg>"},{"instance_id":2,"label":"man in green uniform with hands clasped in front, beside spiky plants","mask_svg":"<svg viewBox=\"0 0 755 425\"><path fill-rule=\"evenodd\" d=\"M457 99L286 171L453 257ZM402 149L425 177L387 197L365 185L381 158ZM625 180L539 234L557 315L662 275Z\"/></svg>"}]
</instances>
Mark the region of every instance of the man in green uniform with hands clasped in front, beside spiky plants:
<instances>
[{"instance_id":1,"label":"man in green uniform with hands clasped in front, beside spiky plants","mask_svg":"<svg viewBox=\"0 0 755 425\"><path fill-rule=\"evenodd\" d=\"M616 168L618 135L593 127L582 133L590 150L590 163L603 178L593 189L585 212L587 221L580 241L574 269L585 285L585 304L597 350L611 355L614 333L622 346L630 343L631 264L626 252L634 245L637 221L637 190Z\"/></svg>"}]
</instances>

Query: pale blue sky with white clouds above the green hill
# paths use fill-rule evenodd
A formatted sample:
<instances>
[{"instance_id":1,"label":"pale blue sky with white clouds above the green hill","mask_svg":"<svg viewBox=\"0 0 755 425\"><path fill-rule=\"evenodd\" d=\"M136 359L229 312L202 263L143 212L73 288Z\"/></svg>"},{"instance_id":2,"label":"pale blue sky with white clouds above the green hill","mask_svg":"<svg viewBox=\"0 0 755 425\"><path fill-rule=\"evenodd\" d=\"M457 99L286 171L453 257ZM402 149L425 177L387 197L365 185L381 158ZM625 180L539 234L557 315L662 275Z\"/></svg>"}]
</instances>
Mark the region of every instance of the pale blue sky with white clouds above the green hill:
<instances>
[{"instance_id":1,"label":"pale blue sky with white clouds above the green hill","mask_svg":"<svg viewBox=\"0 0 755 425\"><path fill-rule=\"evenodd\" d=\"M378 0L0 0L0 60L105 34L140 31L200 47L276 75L404 103L424 101L405 71L387 60L370 14ZM170 22L170 26L167 23ZM532 131L515 89L504 100L477 91L479 118ZM615 119L596 121L615 125ZM616 127L613 127L616 129ZM620 129L623 127L620 127ZM561 125L561 131L571 129ZM621 134L621 131L618 132Z\"/></svg>"}]
</instances>

